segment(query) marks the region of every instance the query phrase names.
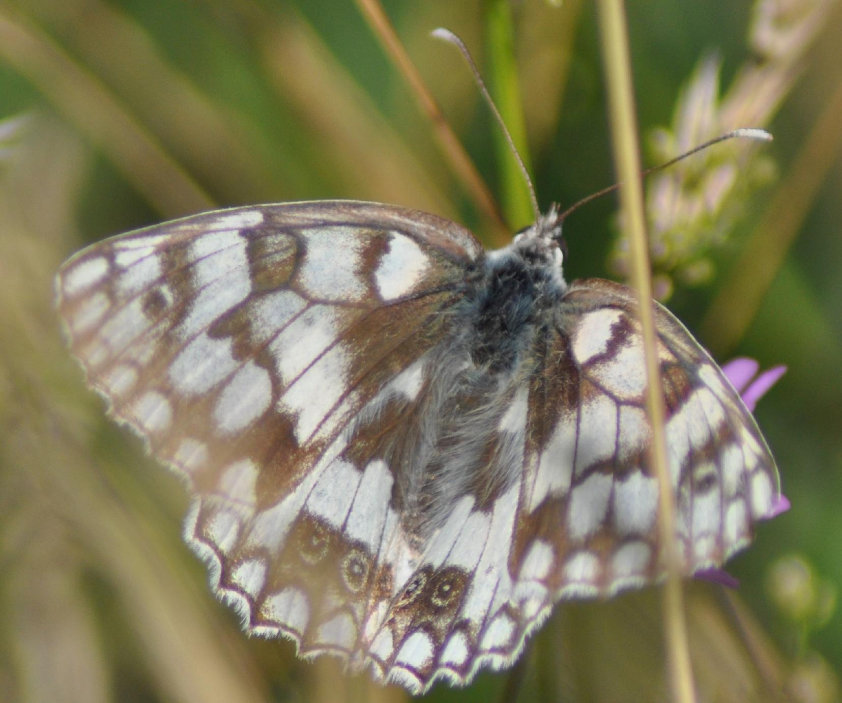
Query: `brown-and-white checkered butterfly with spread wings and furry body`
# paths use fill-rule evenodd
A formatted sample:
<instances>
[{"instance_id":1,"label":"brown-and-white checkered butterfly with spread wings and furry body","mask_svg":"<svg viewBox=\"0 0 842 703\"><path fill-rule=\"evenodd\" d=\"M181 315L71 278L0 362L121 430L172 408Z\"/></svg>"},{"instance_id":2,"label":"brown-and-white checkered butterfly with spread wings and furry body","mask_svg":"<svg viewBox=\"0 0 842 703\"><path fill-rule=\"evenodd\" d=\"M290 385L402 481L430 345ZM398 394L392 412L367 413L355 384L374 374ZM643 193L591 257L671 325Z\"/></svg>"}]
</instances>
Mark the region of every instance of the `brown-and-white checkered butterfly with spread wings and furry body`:
<instances>
[{"instance_id":1,"label":"brown-and-white checkered butterfly with spread wings and furry body","mask_svg":"<svg viewBox=\"0 0 842 703\"><path fill-rule=\"evenodd\" d=\"M239 207L93 244L57 307L109 414L187 480L244 627L413 693L514 662L562 598L663 577L634 292L562 276L551 210L484 250L424 212ZM717 364L655 305L681 568L780 497Z\"/></svg>"}]
</instances>

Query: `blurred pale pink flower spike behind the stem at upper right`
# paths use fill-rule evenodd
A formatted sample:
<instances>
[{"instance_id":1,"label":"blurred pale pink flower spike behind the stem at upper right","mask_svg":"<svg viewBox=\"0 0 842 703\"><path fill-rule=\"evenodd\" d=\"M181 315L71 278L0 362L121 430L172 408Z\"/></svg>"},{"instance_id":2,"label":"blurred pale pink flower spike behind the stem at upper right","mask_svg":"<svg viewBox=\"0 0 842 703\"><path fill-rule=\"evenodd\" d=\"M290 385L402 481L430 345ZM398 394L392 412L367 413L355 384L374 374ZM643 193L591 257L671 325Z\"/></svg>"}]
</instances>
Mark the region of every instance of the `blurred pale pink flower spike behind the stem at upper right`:
<instances>
[{"instance_id":1,"label":"blurred pale pink flower spike behind the stem at upper right","mask_svg":"<svg viewBox=\"0 0 842 703\"><path fill-rule=\"evenodd\" d=\"M649 139L655 164L739 127L768 126L802 75L802 61L829 22L834 0L755 0L743 65L720 89L722 58L703 56L685 81L672 124ZM647 179L652 265L664 299L676 285L709 282L713 255L743 220L744 203L775 173L768 150L735 140L706 149ZM629 271L626 223L611 253L617 274Z\"/></svg>"}]
</instances>

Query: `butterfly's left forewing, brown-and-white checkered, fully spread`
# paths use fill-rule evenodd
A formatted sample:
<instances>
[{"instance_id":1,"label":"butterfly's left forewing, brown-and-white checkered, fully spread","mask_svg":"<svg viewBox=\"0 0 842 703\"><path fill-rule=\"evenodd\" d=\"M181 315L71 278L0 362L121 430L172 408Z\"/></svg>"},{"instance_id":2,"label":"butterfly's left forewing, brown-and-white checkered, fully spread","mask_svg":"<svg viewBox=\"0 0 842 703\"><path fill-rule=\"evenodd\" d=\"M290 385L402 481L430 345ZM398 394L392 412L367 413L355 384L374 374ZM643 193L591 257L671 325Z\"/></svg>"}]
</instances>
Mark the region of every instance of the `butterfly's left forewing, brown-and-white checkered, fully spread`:
<instances>
[{"instance_id":1,"label":"butterfly's left forewing, brown-and-white checkered, fully spread","mask_svg":"<svg viewBox=\"0 0 842 703\"><path fill-rule=\"evenodd\" d=\"M218 469L247 449L298 480L290 469L429 346L473 255L401 214L242 208L98 244L59 277L73 351L115 415L200 486L206 442Z\"/></svg>"}]
</instances>

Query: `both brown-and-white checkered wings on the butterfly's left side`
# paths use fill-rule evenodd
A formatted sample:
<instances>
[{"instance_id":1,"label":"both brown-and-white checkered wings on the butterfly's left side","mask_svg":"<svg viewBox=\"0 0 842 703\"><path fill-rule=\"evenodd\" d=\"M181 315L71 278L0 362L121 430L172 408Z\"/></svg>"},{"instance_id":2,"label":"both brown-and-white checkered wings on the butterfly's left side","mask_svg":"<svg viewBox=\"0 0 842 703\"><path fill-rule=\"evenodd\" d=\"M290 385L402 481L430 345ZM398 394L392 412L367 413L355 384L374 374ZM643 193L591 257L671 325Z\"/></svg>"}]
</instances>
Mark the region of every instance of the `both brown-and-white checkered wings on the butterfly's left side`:
<instances>
[{"instance_id":1,"label":"both brown-and-white checkered wings on the butterfly's left side","mask_svg":"<svg viewBox=\"0 0 842 703\"><path fill-rule=\"evenodd\" d=\"M186 538L249 629L361 646L378 550L408 538L390 468L339 457L342 433L377 394L418 392L480 251L437 217L319 202L187 217L61 268L88 384L189 480Z\"/></svg>"}]
</instances>

